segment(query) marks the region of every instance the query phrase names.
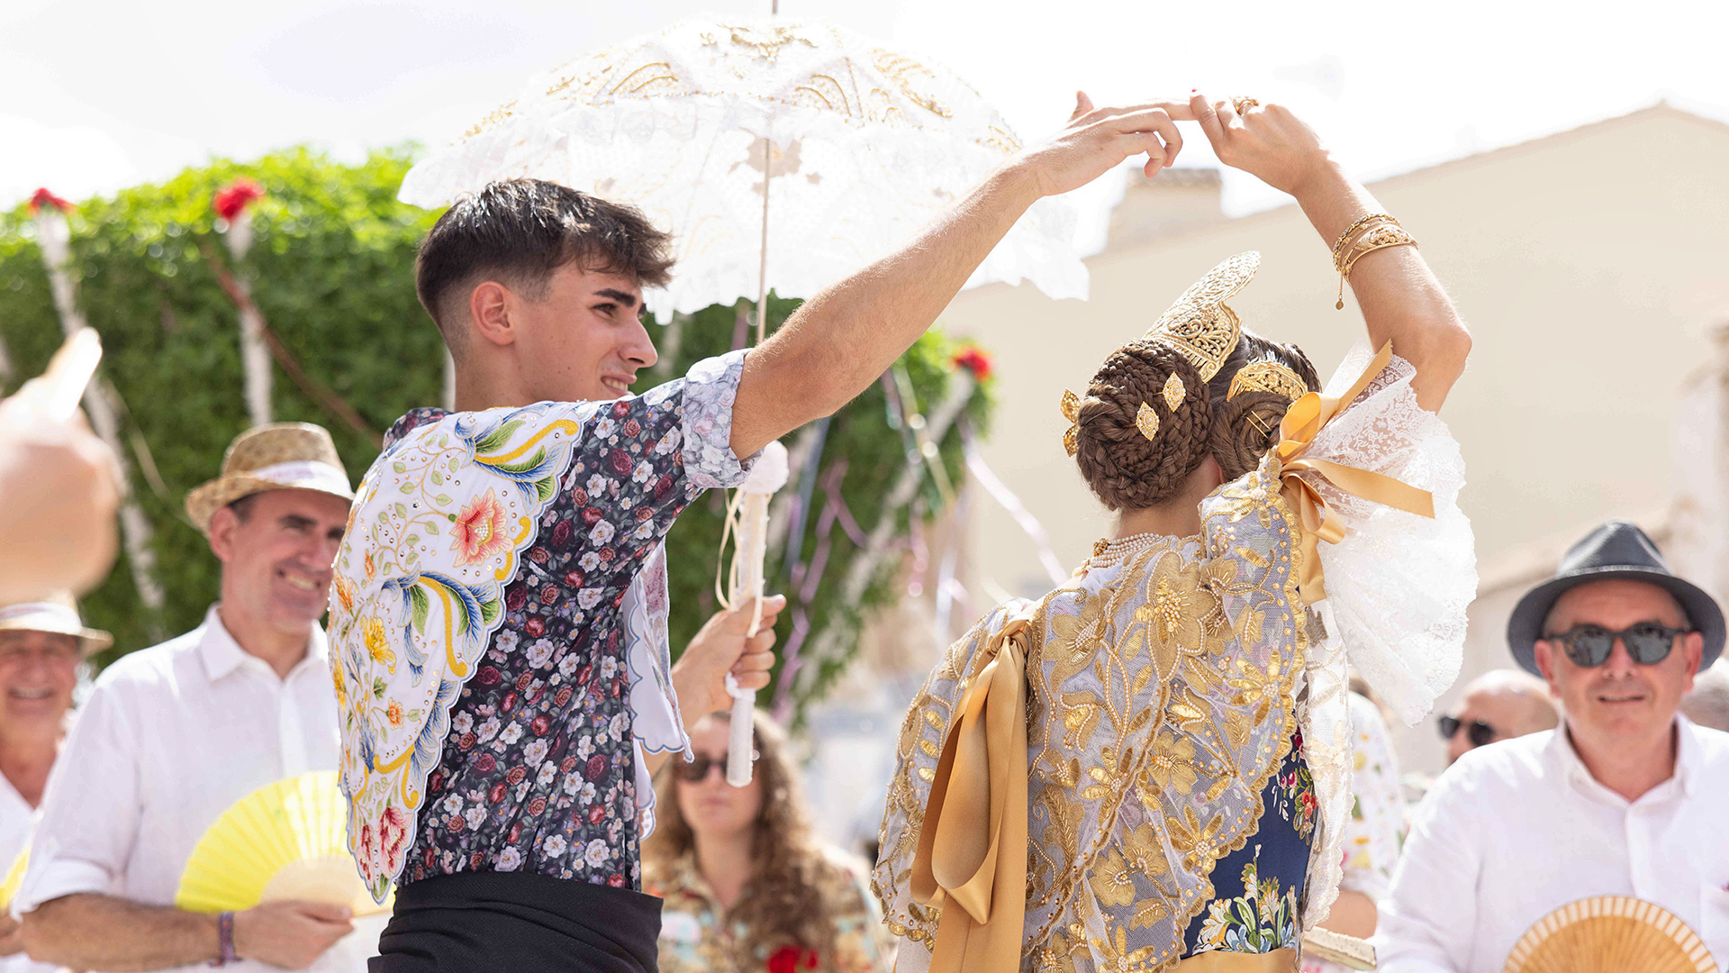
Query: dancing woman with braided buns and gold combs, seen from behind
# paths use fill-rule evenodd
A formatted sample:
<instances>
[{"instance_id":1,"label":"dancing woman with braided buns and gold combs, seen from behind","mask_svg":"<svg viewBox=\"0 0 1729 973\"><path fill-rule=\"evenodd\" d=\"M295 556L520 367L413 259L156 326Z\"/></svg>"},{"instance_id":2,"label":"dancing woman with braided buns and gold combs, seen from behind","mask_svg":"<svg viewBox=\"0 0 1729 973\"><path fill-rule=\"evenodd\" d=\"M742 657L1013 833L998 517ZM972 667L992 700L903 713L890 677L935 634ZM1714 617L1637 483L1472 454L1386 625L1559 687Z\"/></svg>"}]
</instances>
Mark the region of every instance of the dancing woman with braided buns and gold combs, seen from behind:
<instances>
[{"instance_id":1,"label":"dancing woman with braided buns and gold combs, seen from behind","mask_svg":"<svg viewBox=\"0 0 1729 973\"><path fill-rule=\"evenodd\" d=\"M1347 656L1407 722L1458 673L1477 578L1435 410L1470 338L1411 235L1290 111L1196 93L1183 119L1297 197L1368 341L1323 386L1228 305L1259 267L1243 253L1063 393L1063 445L1117 528L913 699L873 873L901 973L1373 964L1323 926ZM1373 904L1349 914L1362 931Z\"/></svg>"}]
</instances>

